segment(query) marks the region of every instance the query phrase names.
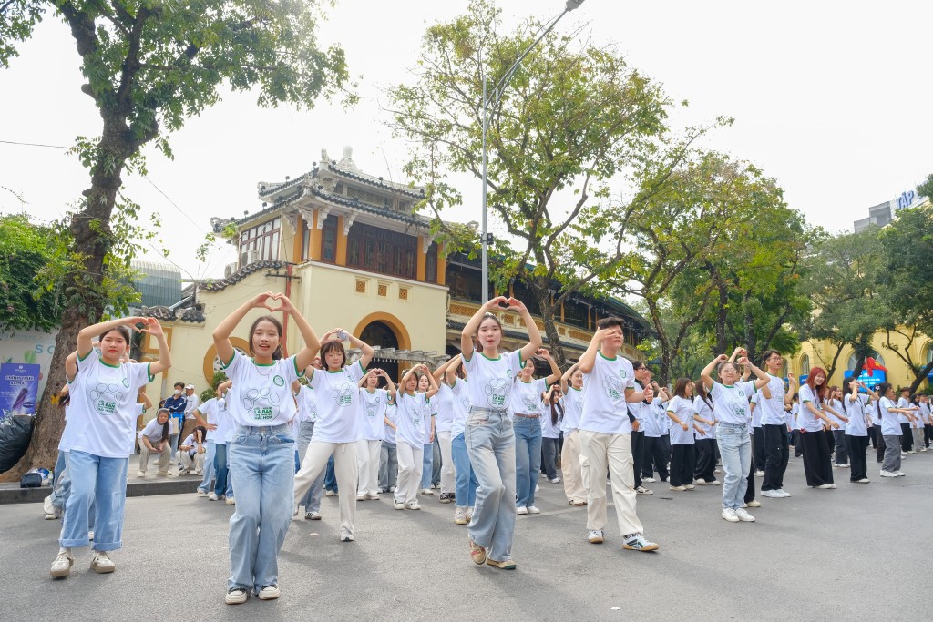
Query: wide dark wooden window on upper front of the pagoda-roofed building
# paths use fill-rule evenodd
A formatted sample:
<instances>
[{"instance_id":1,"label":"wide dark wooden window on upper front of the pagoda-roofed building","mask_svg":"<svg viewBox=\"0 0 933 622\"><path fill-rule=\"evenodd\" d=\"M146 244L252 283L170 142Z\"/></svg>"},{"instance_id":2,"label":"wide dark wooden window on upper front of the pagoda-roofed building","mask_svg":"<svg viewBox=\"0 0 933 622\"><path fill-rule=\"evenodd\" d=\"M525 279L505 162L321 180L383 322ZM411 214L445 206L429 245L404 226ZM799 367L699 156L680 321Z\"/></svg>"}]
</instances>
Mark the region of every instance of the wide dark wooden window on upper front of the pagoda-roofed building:
<instances>
[{"instance_id":1,"label":"wide dark wooden window on upper front of the pagoda-roofed building","mask_svg":"<svg viewBox=\"0 0 933 622\"><path fill-rule=\"evenodd\" d=\"M360 270L414 279L417 252L417 238L362 223L356 223L347 237L347 266Z\"/></svg>"}]
</instances>

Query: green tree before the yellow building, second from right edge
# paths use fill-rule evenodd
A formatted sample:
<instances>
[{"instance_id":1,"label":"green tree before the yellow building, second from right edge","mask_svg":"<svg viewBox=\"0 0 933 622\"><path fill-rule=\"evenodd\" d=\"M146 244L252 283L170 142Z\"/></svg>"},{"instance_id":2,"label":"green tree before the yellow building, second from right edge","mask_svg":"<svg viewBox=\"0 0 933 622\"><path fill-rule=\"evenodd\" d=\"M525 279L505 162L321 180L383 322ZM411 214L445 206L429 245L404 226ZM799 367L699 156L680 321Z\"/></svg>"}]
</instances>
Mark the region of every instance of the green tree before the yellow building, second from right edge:
<instances>
[{"instance_id":1,"label":"green tree before the yellow building, second from right edge","mask_svg":"<svg viewBox=\"0 0 933 622\"><path fill-rule=\"evenodd\" d=\"M872 353L875 331L893 327L891 311L880 295L882 271L878 228L829 236L815 231L815 242L805 259L801 291L815 311L805 329L811 339L827 339L830 352L817 352L829 378L836 372L842 349L852 346L855 375Z\"/></svg>"}]
</instances>

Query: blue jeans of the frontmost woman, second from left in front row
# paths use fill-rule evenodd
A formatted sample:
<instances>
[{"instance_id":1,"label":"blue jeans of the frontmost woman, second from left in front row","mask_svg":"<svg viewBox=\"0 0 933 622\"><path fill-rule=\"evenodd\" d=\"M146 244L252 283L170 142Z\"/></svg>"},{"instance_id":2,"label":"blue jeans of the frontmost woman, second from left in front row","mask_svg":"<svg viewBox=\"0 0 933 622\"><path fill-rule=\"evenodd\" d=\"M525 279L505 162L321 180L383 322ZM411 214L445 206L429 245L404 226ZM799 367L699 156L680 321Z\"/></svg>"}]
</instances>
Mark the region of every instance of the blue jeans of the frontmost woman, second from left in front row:
<instances>
[{"instance_id":1,"label":"blue jeans of the frontmost woman, second from left in front row","mask_svg":"<svg viewBox=\"0 0 933 622\"><path fill-rule=\"evenodd\" d=\"M259 591L279 582L279 549L291 524L295 439L287 425L239 427L230 443L237 490L230 517L228 589Z\"/></svg>"}]
</instances>

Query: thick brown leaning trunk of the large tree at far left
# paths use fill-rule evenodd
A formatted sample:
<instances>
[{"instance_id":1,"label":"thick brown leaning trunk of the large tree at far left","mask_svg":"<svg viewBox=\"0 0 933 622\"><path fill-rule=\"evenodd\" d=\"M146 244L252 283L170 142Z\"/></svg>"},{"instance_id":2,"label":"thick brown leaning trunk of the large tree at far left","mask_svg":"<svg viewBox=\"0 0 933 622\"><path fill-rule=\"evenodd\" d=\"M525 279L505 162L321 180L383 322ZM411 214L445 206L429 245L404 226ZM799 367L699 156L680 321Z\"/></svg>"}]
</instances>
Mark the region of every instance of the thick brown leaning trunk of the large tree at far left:
<instances>
[{"instance_id":1,"label":"thick brown leaning trunk of the large tree at far left","mask_svg":"<svg viewBox=\"0 0 933 622\"><path fill-rule=\"evenodd\" d=\"M114 126L106 123L104 127ZM125 127L125 124L123 125ZM35 429L29 449L19 463L0 480L15 481L31 468L49 470L58 457L59 441L64 430L64 409L52 404L52 397L64 386L64 361L77 347L77 334L82 328L98 321L104 311L104 256L110 250L110 216L117 204L117 192L122 185L120 173L126 162L123 154L132 153L130 145L119 131L104 131L97 145L99 155L91 176L91 188L84 191L85 208L71 222L71 253L81 256L84 270L68 274L64 291L70 294L68 307L62 316L62 327L55 339L55 352L49 363L49 378L39 400ZM104 155L110 154L110 156Z\"/></svg>"}]
</instances>

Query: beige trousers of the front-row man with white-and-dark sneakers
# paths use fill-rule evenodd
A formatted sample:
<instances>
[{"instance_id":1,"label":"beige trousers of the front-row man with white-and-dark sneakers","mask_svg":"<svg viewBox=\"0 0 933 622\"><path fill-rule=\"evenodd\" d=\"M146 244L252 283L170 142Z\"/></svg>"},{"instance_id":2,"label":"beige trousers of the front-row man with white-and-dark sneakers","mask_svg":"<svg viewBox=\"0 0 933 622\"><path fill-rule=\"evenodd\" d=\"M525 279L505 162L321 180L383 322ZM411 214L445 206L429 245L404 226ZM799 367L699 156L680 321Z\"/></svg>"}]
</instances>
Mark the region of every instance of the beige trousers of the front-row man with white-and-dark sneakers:
<instances>
[{"instance_id":1,"label":"beige trousers of the front-row man with white-and-dark sneakers","mask_svg":"<svg viewBox=\"0 0 933 622\"><path fill-rule=\"evenodd\" d=\"M606 468L612 478L612 503L616 505L619 531L624 535L642 533L641 521L635 516L634 460L632 436L610 435L580 430L580 466L583 486L587 490L586 528L606 529Z\"/></svg>"}]
</instances>

